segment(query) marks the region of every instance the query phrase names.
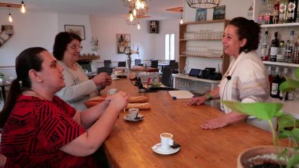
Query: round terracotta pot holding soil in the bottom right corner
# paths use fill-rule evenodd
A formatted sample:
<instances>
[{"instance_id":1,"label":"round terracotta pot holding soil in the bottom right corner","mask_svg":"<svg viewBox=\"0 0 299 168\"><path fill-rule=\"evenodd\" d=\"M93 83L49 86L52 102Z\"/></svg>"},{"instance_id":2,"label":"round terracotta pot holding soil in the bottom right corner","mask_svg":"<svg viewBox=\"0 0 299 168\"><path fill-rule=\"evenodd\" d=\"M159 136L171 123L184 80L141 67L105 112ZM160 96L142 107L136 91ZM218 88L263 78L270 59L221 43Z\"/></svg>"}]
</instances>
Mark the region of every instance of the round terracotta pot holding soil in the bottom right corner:
<instances>
[{"instance_id":1,"label":"round terracotta pot holding soil in the bottom right corner","mask_svg":"<svg viewBox=\"0 0 299 168\"><path fill-rule=\"evenodd\" d=\"M284 148L278 147L278 150L282 151L282 149ZM260 165L263 163L269 163L273 165L277 164L279 167L278 160L275 159L275 153L275 147L273 146L258 146L247 149L239 154L237 158L237 168L247 168L250 167L250 165Z\"/></svg>"}]
</instances>

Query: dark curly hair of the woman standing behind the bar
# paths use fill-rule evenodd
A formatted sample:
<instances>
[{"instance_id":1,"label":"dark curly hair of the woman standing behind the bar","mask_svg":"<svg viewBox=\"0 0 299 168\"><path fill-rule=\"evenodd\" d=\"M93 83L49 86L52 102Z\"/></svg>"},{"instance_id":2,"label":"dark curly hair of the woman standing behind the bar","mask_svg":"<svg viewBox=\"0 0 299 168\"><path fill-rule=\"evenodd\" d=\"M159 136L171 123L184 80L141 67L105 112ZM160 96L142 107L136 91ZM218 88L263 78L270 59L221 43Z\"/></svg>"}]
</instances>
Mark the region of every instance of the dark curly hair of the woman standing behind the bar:
<instances>
[{"instance_id":1,"label":"dark curly hair of the woman standing behind the bar","mask_svg":"<svg viewBox=\"0 0 299 168\"><path fill-rule=\"evenodd\" d=\"M249 51L256 50L258 48L261 33L260 24L244 17L235 17L228 25L237 27L239 40L247 39L246 44L240 48L239 53L242 53L242 51L248 53Z\"/></svg>"}]
</instances>

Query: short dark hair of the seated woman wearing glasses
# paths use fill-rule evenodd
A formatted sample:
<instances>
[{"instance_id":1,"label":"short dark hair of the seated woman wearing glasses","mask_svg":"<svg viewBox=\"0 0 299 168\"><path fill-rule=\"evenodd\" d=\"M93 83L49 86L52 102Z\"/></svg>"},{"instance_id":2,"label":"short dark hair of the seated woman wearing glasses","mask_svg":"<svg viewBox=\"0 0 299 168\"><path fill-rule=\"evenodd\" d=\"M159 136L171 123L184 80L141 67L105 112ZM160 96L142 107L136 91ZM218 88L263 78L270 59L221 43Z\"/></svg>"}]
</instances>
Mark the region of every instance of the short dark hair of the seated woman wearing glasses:
<instances>
[{"instance_id":1,"label":"short dark hair of the seated woman wearing glasses","mask_svg":"<svg viewBox=\"0 0 299 168\"><path fill-rule=\"evenodd\" d=\"M82 41L81 37L73 32L60 32L55 37L55 42L53 46L53 55L57 60L62 60L64 52L66 51L66 46L71 43L73 39L78 39Z\"/></svg>"}]
</instances>

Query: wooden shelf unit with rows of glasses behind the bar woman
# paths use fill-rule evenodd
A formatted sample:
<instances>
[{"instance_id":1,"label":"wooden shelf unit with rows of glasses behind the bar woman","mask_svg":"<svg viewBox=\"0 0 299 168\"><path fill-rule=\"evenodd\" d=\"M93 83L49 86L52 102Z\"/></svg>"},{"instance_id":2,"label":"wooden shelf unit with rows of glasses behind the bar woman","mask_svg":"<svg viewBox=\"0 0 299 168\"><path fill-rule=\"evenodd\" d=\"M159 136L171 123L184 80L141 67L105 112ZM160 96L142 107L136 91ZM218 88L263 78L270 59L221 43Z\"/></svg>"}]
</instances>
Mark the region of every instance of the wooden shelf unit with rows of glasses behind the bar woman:
<instances>
[{"instance_id":1,"label":"wooden shelf unit with rows of glasses behind the bar woman","mask_svg":"<svg viewBox=\"0 0 299 168\"><path fill-rule=\"evenodd\" d=\"M224 54L221 38L228 23L222 19L179 25L179 72L183 72L188 57L220 60L222 72L226 72L230 57Z\"/></svg>"}]
</instances>

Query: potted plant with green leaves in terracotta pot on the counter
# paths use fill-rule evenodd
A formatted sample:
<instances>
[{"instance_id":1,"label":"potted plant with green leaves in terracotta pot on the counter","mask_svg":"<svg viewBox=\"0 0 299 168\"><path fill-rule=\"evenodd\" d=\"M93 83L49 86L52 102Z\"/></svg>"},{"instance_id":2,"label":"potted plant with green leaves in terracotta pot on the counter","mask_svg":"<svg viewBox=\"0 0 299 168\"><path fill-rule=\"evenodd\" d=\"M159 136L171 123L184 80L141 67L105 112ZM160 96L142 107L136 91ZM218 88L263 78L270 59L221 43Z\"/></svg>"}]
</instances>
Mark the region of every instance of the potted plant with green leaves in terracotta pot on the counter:
<instances>
[{"instance_id":1,"label":"potted plant with green leaves in terracotta pot on the counter","mask_svg":"<svg viewBox=\"0 0 299 168\"><path fill-rule=\"evenodd\" d=\"M299 68L296 68L296 78L299 79ZM287 77L280 85L280 91L289 92L299 88L299 80ZM299 120L282 112L281 103L257 102L241 103L221 101L228 108L253 115L260 120L267 120L272 129L273 146L254 147L243 151L238 157L237 167L299 167ZM273 126L272 118L278 118L278 131ZM280 139L288 138L287 147L282 147ZM273 166L275 165L275 166Z\"/></svg>"}]
</instances>

